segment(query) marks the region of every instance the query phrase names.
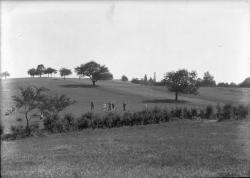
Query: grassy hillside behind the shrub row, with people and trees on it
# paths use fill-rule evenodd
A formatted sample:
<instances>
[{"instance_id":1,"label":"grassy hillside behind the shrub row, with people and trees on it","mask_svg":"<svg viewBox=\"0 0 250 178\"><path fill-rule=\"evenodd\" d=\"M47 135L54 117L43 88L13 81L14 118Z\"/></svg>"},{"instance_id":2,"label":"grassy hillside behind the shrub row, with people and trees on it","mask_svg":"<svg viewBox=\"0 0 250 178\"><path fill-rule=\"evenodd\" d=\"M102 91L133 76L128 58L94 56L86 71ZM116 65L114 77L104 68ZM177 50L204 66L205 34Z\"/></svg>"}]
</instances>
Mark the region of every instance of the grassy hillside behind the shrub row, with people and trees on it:
<instances>
[{"instance_id":1,"label":"grassy hillside behind the shrub row, with people and trees on it","mask_svg":"<svg viewBox=\"0 0 250 178\"><path fill-rule=\"evenodd\" d=\"M150 107L203 107L217 103L244 103L250 102L248 88L200 88L198 95L180 95L180 102L173 101L174 94L165 87L143 86L121 81L98 81L97 87L92 87L88 79L58 79L58 78L23 78L1 81L1 118L6 128L16 124L18 114L5 116L5 111L13 105L11 96L18 94L18 87L28 85L48 88L50 94L66 94L76 101L64 112L79 116L90 110L90 102L95 104L95 112L103 112L103 104L109 101L115 103L121 112L122 103L127 103L129 111L136 111Z\"/></svg>"}]
</instances>

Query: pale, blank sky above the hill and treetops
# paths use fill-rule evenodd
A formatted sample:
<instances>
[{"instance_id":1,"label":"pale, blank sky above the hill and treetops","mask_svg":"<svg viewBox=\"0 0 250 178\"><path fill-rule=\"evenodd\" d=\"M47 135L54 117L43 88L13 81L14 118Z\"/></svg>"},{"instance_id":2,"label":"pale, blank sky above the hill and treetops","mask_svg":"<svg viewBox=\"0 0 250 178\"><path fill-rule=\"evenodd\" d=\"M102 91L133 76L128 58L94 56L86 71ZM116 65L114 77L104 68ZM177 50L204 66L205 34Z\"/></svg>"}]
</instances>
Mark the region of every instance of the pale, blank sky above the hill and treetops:
<instances>
[{"instance_id":1,"label":"pale, blank sky above the hill and treetops","mask_svg":"<svg viewBox=\"0 0 250 178\"><path fill-rule=\"evenodd\" d=\"M95 60L115 78L187 68L239 83L250 77L249 2L4 1L1 68L27 77Z\"/></svg>"}]
</instances>

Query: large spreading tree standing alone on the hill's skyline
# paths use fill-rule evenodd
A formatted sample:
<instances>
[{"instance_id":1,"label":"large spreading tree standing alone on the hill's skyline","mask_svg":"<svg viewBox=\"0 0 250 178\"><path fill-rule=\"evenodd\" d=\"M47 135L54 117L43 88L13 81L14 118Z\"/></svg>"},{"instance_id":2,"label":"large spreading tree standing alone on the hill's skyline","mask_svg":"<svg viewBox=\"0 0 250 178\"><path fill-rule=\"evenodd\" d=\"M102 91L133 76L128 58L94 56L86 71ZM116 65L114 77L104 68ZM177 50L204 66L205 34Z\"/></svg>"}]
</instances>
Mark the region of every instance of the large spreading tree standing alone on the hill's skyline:
<instances>
[{"instance_id":1,"label":"large spreading tree standing alone on the hill's skyline","mask_svg":"<svg viewBox=\"0 0 250 178\"><path fill-rule=\"evenodd\" d=\"M98 80L111 80L113 75L109 72L105 65L100 65L94 61L90 61L75 68L75 72L79 76L87 76L92 81L93 86Z\"/></svg>"}]
</instances>

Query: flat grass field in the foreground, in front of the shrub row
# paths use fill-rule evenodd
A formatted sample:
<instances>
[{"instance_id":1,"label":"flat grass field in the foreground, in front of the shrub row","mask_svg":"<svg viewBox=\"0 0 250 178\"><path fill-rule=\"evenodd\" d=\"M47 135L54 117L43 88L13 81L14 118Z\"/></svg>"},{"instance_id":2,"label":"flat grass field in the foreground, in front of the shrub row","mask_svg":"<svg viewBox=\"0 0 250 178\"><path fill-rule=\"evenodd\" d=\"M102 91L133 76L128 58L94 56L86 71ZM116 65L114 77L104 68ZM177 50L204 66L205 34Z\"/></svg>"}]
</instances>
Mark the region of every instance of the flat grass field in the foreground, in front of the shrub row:
<instances>
[{"instance_id":1,"label":"flat grass field in the foreground, in front of the shrub row","mask_svg":"<svg viewBox=\"0 0 250 178\"><path fill-rule=\"evenodd\" d=\"M249 137L238 129L246 123L180 120L3 142L2 176L250 176Z\"/></svg>"}]
</instances>

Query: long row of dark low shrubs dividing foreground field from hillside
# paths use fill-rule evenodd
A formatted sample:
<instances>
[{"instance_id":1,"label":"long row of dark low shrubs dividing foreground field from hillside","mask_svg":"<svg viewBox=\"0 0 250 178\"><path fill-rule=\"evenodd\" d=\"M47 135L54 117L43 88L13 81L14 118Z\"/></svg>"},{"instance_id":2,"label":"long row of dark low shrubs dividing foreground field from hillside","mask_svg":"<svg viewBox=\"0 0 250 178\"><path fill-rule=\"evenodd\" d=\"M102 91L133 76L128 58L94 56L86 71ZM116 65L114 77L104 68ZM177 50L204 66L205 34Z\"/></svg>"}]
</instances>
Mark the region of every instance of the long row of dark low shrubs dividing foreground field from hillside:
<instances>
[{"instance_id":1,"label":"long row of dark low shrubs dividing foreground field from hillside","mask_svg":"<svg viewBox=\"0 0 250 178\"><path fill-rule=\"evenodd\" d=\"M79 131L83 129L97 128L114 128L122 126L159 124L179 119L217 119L218 121L229 119L244 119L248 115L248 108L244 105L233 106L225 104L216 107L207 106L204 109L197 108L172 108L159 109L153 108L138 112L106 112L97 114L88 112L80 117L73 114L65 114L63 117L59 115L46 117L43 120L44 131L50 133L62 133L69 131ZM12 127L12 134L3 136L3 139L23 138L38 132L37 126L31 126L29 133L22 127Z\"/></svg>"}]
</instances>

